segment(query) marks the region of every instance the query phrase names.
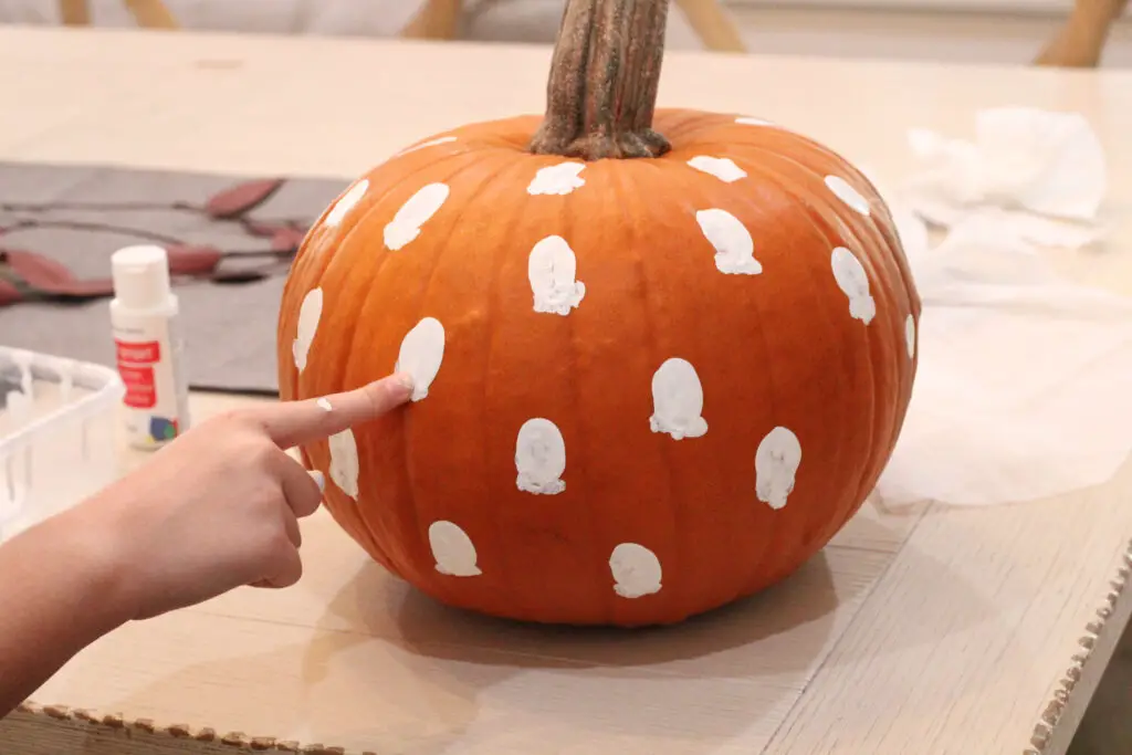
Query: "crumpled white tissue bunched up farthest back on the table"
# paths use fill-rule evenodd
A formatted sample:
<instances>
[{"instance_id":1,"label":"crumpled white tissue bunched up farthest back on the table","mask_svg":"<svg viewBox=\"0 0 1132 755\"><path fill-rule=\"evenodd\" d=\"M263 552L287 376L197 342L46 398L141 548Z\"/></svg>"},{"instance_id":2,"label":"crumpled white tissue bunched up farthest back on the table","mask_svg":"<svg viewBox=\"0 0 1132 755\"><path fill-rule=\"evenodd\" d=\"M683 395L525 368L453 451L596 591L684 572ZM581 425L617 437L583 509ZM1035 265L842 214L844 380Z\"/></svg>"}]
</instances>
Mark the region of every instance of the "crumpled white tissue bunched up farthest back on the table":
<instances>
[{"instance_id":1,"label":"crumpled white tissue bunched up farthest back on the table","mask_svg":"<svg viewBox=\"0 0 1132 755\"><path fill-rule=\"evenodd\" d=\"M1105 232L1105 153L1079 113L992 108L976 114L974 141L912 129L908 144L916 166L901 197L928 223L980 215L1031 243L1069 248Z\"/></svg>"}]
</instances>

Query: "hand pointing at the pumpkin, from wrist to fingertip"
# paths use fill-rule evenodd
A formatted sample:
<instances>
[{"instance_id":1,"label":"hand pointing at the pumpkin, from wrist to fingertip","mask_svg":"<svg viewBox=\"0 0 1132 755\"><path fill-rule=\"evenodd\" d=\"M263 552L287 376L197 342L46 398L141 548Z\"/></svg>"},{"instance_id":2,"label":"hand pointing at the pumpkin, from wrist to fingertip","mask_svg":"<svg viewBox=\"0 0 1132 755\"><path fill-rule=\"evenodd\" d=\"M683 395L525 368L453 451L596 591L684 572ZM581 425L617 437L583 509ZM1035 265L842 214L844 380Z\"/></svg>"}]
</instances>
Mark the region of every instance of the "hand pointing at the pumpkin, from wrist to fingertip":
<instances>
[{"instance_id":1,"label":"hand pointing at the pumpkin, from wrist to fingertip","mask_svg":"<svg viewBox=\"0 0 1132 755\"><path fill-rule=\"evenodd\" d=\"M298 582L299 518L318 509L325 481L285 449L375 419L411 392L411 378L391 376L326 396L329 411L311 398L221 414L72 509L75 526L105 538L127 619Z\"/></svg>"}]
</instances>

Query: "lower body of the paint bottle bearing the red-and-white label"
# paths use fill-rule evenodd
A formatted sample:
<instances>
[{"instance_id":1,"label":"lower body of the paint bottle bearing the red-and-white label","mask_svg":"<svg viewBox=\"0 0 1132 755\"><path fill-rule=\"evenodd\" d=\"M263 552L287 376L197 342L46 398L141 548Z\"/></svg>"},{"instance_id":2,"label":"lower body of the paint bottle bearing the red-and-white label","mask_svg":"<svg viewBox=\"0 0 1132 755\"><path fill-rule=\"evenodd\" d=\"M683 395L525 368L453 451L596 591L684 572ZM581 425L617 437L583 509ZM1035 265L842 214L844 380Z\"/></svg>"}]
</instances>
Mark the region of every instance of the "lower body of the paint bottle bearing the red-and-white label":
<instances>
[{"instance_id":1,"label":"lower body of the paint bottle bearing the red-and-white label","mask_svg":"<svg viewBox=\"0 0 1132 755\"><path fill-rule=\"evenodd\" d=\"M130 443L155 446L188 428L188 389L181 370L179 333L173 323L153 318L114 327L118 374L126 386Z\"/></svg>"}]
</instances>

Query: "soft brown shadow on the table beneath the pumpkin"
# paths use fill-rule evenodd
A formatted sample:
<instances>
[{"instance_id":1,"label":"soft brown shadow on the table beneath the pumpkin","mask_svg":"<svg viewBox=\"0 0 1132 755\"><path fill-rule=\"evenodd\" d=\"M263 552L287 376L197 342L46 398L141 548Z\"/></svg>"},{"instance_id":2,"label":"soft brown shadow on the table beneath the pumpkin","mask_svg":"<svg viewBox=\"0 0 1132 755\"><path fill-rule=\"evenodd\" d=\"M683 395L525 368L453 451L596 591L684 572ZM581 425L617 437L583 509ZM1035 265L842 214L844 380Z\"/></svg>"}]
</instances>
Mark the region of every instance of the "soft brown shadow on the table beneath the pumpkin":
<instances>
[{"instance_id":1,"label":"soft brown shadow on the table beneath the pumpkin","mask_svg":"<svg viewBox=\"0 0 1132 755\"><path fill-rule=\"evenodd\" d=\"M670 672L697 677L790 674L815 663L833 628L834 609L867 587L835 587L827 558L821 551L758 594L670 626L568 627L494 618L445 606L376 564L359 569L328 612L417 654L454 661L525 668L670 667Z\"/></svg>"}]
</instances>

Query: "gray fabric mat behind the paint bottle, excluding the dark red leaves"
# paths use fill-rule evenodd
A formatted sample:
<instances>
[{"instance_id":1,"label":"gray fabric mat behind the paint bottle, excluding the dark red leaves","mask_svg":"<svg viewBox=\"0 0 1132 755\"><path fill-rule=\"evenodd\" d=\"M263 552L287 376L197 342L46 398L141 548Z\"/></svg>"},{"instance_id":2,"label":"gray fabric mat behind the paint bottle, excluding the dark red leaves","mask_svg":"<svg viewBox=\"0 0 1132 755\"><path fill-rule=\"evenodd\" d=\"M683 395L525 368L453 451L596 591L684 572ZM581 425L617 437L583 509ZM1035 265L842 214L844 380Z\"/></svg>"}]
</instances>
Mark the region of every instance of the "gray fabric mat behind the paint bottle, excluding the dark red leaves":
<instances>
[{"instance_id":1,"label":"gray fabric mat behind the paint bottle, excluding the dark red leaves","mask_svg":"<svg viewBox=\"0 0 1132 755\"><path fill-rule=\"evenodd\" d=\"M32 216L57 223L0 233L0 249L38 252L85 278L109 277L110 255L120 247L147 242L144 234L212 244L225 251L266 250L267 240L248 235L237 223L172 208L120 207L203 205L209 196L246 180L251 179L108 166L0 163L0 231ZM341 179L289 179L249 215L265 221L297 218L307 228L348 183ZM6 211L3 205L22 207ZM119 207L108 209L106 205ZM74 228L84 224L110 225L135 233ZM138 232L143 235L137 235ZM192 387L277 392L275 325L285 265L280 267L274 277L252 283L192 281L177 286L186 336L186 368ZM0 344L113 367L108 308L109 298L0 307Z\"/></svg>"}]
</instances>

